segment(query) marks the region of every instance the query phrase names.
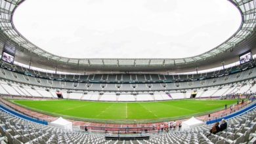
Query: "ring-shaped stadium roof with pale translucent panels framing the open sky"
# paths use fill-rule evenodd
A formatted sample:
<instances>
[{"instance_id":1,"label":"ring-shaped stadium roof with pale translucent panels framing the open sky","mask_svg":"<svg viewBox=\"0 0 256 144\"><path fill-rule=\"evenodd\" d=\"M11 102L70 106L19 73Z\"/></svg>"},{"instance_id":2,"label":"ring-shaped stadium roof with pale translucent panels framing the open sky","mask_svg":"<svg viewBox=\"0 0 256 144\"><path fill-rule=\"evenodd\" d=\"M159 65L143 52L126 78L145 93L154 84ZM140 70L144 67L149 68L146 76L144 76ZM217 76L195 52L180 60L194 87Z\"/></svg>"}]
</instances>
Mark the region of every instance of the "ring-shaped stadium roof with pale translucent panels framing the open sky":
<instances>
[{"instance_id":1,"label":"ring-shaped stadium roof with pale translucent panels framing the open sky","mask_svg":"<svg viewBox=\"0 0 256 144\"><path fill-rule=\"evenodd\" d=\"M51 54L22 36L14 27L12 16L15 9L23 0L0 0L0 26L1 42L12 41L17 46L16 61L34 63L45 67L58 67L58 69L74 69L88 71L164 71L169 69L182 69L187 67L199 67L209 63L224 62L234 59L256 45L256 1L255 0L230 0L240 10L242 23L238 31L224 43L212 50L198 56L175 59L78 59L64 58ZM237 58L236 58L237 60Z\"/></svg>"}]
</instances>

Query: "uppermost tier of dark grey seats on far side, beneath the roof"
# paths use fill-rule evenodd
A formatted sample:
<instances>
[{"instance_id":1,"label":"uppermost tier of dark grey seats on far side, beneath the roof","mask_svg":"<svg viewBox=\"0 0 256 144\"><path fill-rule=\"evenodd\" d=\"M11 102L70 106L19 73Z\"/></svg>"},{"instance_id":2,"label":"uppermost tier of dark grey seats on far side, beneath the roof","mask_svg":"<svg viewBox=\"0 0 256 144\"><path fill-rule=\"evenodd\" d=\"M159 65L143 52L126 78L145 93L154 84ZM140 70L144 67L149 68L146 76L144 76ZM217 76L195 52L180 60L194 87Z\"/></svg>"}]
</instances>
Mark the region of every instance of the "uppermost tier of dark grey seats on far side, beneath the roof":
<instances>
[{"instance_id":1,"label":"uppermost tier of dark grey seats on far side, beneath the roof","mask_svg":"<svg viewBox=\"0 0 256 144\"><path fill-rule=\"evenodd\" d=\"M243 71L244 69L249 69L251 67L255 67L255 60L249 63L245 63L243 65L238 65L234 67L230 67L227 69L221 69L218 71L213 71L209 73L198 73L198 74L189 74L189 75L158 75L158 74L90 74L90 75L61 75L61 74L54 74L54 73L44 73L41 71L35 71L32 69L26 69L24 67L20 67L18 65L9 65L7 63L1 63L0 77L12 77L12 78L19 78L19 79L28 79L30 83L37 84L37 79L30 79L26 76L23 78L20 75L16 75L16 73L22 73L26 75L30 75L33 77L45 78L45 79L54 79L58 81L84 81L84 82L182 82L182 81L197 81L202 79L209 79L209 78L218 78L222 76L223 79L232 79L234 77L229 77L228 75L232 73L238 73ZM16 73L6 73L8 71L15 71ZM253 71L247 71L242 75L250 75ZM236 75L235 77L238 77ZM242 77L241 79L243 79Z\"/></svg>"}]
</instances>

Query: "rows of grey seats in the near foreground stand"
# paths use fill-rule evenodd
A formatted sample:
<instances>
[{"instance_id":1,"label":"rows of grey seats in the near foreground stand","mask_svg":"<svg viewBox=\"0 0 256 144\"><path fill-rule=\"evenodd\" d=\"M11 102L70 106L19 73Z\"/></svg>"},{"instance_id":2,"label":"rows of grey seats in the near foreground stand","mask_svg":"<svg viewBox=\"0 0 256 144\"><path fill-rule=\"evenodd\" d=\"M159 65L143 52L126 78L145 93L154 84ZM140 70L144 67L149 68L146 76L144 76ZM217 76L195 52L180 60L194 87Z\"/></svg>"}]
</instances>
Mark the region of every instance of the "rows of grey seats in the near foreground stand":
<instances>
[{"instance_id":1,"label":"rows of grey seats in the near foreground stand","mask_svg":"<svg viewBox=\"0 0 256 144\"><path fill-rule=\"evenodd\" d=\"M254 104L255 105L255 104ZM251 107L251 108L250 108ZM106 140L110 134L71 132L53 126L37 124L17 117L3 109L0 111L0 141L3 143L254 143L256 110L251 105L242 115L228 119L228 128L217 134L209 134L212 125L189 129L173 129L169 132L148 134L150 139L128 141ZM239 113L239 112L238 112Z\"/></svg>"}]
</instances>

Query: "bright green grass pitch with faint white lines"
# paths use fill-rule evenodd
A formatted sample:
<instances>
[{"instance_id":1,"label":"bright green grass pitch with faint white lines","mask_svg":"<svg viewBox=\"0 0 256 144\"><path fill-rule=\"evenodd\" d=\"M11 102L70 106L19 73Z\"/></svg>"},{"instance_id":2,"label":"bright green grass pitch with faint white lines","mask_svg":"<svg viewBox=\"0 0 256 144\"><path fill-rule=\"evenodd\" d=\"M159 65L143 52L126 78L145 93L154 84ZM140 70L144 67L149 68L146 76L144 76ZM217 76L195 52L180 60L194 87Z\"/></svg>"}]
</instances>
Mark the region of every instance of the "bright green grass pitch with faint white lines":
<instances>
[{"instance_id":1,"label":"bright green grass pitch with faint white lines","mask_svg":"<svg viewBox=\"0 0 256 144\"><path fill-rule=\"evenodd\" d=\"M95 120L156 120L188 117L224 109L237 100L174 100L159 102L94 102L76 100L12 100L12 102L54 116Z\"/></svg>"}]
</instances>

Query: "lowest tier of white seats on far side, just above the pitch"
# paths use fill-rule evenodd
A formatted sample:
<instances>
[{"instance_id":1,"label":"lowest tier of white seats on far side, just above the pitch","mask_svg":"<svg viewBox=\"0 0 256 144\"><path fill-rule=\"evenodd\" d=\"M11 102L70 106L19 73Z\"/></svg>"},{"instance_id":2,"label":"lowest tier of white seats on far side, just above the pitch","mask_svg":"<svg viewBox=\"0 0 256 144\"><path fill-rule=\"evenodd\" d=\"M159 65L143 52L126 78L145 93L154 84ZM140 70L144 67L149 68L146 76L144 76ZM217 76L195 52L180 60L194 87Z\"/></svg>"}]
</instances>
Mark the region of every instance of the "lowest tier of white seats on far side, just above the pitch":
<instances>
[{"instance_id":1,"label":"lowest tier of white seats on far side, just above the pitch","mask_svg":"<svg viewBox=\"0 0 256 144\"><path fill-rule=\"evenodd\" d=\"M6 73L13 73L11 71L6 71ZM249 78L249 77L247 77ZM137 101L154 101L156 99L158 100L165 100L165 99L182 99L182 98L190 98L192 92L197 92L196 98L203 98L203 97L221 97L226 96L228 94L253 94L256 92L255 88L255 81L253 81L252 77L251 79L244 79L244 81L232 81L228 84L220 84L220 85L213 85L211 84L212 79L206 80L210 81L207 82L208 86L202 86L202 87L190 87L186 89L185 84L188 84L187 82L180 82L180 87L184 84L183 88L173 90L173 89L166 89L161 88L158 90L146 90L146 89L136 89L133 88L131 84L120 84L121 90L116 87L118 87L118 84L106 84L104 85L104 90L102 90L103 84L94 84L94 83L86 83L86 86L84 86L84 89L78 90L78 89L66 89L66 88L60 88L59 83L60 81L53 81L53 85L49 87L49 85L33 85L33 83L22 81L22 82L16 82L16 81L7 81L7 79L2 79L0 88L1 88L1 94L4 95L13 95L13 96L35 96L35 97L46 97L46 98L56 98L56 90L60 90L64 94L64 98L70 98L70 99L87 99L87 100L102 100L102 101L116 101L115 99L119 99L119 101L126 100L126 101L133 101L131 99L123 99L123 92L125 92L125 95L131 96L129 98L132 98L136 96ZM194 81L194 84L196 82L200 81ZM70 83L71 82L66 82ZM84 83L79 83L77 85L81 86ZM167 87L171 85L174 85L173 83L163 83L166 84ZM137 84L137 86L148 86L149 84ZM153 88L156 86L160 86L160 84L151 83L150 84ZM111 86L111 87L108 87ZM87 87L87 88L86 88ZM89 87L89 88L88 88ZM108 89L107 89L108 88ZM113 88L113 89L112 89ZM123 88L123 89L122 89ZM86 92L85 92L86 90ZM102 93L102 98L98 98L98 96L95 96L97 94ZM119 93L120 96L117 95L116 92ZM129 93L127 93L129 92ZM136 93L134 93L136 92ZM172 98L169 98L166 94L166 92L171 94ZM68 93L68 96L67 94ZM161 95L161 96L158 96ZM148 98L146 98L146 95ZM117 98L117 96L119 98ZM144 98L145 97L145 98ZM156 98L155 98L156 97ZM164 98L163 98L164 97Z\"/></svg>"}]
</instances>

